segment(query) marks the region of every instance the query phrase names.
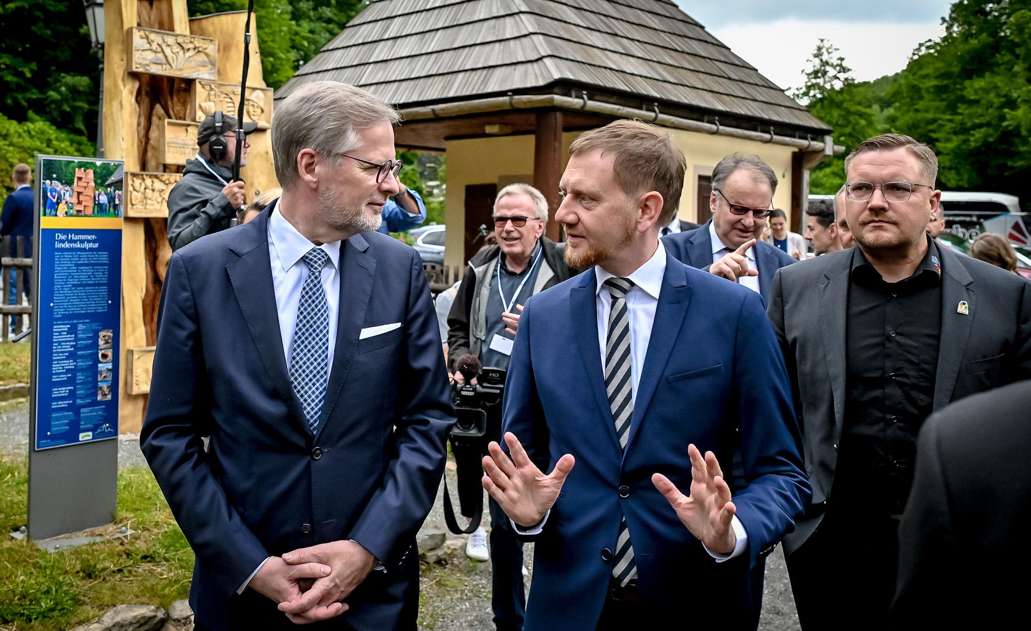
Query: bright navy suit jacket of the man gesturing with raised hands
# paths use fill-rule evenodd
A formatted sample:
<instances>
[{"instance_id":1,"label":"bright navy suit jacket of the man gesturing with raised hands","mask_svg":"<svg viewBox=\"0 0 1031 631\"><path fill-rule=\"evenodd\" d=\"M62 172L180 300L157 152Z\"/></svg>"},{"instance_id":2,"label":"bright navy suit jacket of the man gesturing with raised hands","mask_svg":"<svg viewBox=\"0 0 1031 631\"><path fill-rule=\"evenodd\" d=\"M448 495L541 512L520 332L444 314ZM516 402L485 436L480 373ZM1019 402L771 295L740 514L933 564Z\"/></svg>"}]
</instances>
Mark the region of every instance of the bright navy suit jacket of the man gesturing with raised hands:
<instances>
[{"instance_id":1,"label":"bright navy suit jacket of the man gesturing with raised hands","mask_svg":"<svg viewBox=\"0 0 1031 631\"><path fill-rule=\"evenodd\" d=\"M749 570L809 498L791 386L762 301L667 258L623 451L605 395L595 288L592 269L528 300L508 369L505 430L545 470L564 454L576 459L537 537L524 628L595 628L624 514L643 612L655 617L641 620L645 628L671 607L693 622L712 612L728 628L751 628ZM733 499L747 552L724 563L652 484L664 473L690 492L689 443L727 468L735 449L742 454L746 484Z\"/></svg>"}]
</instances>

